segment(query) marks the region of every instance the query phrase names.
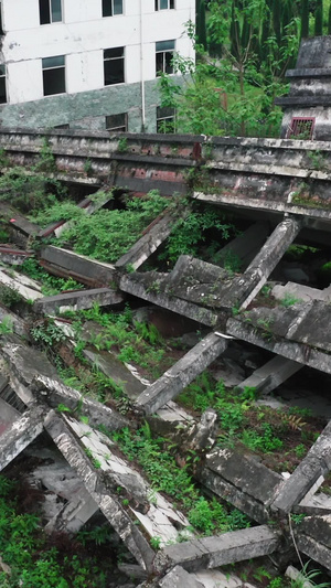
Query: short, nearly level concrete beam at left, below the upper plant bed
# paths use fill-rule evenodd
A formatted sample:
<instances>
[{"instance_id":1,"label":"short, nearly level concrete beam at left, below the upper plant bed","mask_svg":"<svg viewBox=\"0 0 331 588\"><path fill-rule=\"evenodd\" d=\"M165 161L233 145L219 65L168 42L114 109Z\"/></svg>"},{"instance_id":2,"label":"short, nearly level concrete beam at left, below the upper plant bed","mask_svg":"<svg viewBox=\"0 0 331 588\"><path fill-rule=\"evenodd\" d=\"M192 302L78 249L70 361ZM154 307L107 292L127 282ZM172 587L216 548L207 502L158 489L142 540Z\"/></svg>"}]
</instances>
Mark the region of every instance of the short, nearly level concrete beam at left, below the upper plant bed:
<instances>
[{"instance_id":1,"label":"short, nearly level concrete beam at left, below the upper plant bed","mask_svg":"<svg viewBox=\"0 0 331 588\"><path fill-rule=\"evenodd\" d=\"M40 298L33 308L43 314L57 314L66 310L83 310L92 308L94 303L100 307L119 304L124 296L110 288L95 288L93 290L76 290L56 296Z\"/></svg>"}]
</instances>

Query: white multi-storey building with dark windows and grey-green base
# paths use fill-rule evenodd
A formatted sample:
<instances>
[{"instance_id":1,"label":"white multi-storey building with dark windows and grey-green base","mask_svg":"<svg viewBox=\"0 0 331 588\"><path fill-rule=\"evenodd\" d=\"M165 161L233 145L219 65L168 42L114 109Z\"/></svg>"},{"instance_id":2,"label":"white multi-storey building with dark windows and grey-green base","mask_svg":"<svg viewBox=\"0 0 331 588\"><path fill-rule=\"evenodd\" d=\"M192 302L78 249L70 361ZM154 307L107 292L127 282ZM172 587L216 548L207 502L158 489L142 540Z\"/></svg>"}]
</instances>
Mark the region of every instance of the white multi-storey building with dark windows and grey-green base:
<instances>
[{"instance_id":1,"label":"white multi-storey building with dark windows and grey-green base","mask_svg":"<svg viewBox=\"0 0 331 588\"><path fill-rule=\"evenodd\" d=\"M194 17L195 0L1 0L0 125L156 131Z\"/></svg>"}]
</instances>

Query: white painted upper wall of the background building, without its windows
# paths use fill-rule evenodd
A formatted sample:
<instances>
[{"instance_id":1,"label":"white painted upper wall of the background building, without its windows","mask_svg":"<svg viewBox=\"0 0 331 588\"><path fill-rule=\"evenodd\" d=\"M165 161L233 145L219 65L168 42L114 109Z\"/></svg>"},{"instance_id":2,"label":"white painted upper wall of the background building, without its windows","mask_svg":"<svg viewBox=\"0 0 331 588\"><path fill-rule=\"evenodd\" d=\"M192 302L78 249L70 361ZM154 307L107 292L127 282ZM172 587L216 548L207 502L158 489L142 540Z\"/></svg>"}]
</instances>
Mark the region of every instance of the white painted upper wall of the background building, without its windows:
<instances>
[{"instance_id":1,"label":"white painted upper wall of the background building, without its windows","mask_svg":"<svg viewBox=\"0 0 331 588\"><path fill-rule=\"evenodd\" d=\"M156 42L175 40L177 51L193 57L184 23L194 19L195 0L177 0L175 10L154 11L154 0L125 0L125 14L102 18L102 0L63 0L63 22L40 25L39 0L2 0L2 54L8 64L9 103L43 97L42 57L66 56L68 94L104 87L103 50L126 47L126 83L156 77Z\"/></svg>"}]
</instances>

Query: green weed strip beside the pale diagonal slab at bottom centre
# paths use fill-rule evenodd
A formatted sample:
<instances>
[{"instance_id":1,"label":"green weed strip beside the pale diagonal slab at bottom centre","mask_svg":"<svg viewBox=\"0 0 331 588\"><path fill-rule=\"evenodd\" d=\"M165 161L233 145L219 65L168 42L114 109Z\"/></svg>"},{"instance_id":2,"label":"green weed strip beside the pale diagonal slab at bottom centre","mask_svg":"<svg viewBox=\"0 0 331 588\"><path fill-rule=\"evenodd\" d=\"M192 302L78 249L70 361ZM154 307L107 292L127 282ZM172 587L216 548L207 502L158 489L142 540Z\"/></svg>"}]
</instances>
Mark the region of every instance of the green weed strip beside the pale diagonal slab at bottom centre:
<instances>
[{"instance_id":1,"label":"green weed strip beside the pale diagonal slab at bottom centre","mask_svg":"<svg viewBox=\"0 0 331 588\"><path fill-rule=\"evenodd\" d=\"M195 488L189 466L179 467L169 442L162 437L153 439L147 424L137 431L125 428L110 435L122 452L143 468L152 489L174 499L202 535L249 526L248 518L236 509L205 499Z\"/></svg>"}]
</instances>

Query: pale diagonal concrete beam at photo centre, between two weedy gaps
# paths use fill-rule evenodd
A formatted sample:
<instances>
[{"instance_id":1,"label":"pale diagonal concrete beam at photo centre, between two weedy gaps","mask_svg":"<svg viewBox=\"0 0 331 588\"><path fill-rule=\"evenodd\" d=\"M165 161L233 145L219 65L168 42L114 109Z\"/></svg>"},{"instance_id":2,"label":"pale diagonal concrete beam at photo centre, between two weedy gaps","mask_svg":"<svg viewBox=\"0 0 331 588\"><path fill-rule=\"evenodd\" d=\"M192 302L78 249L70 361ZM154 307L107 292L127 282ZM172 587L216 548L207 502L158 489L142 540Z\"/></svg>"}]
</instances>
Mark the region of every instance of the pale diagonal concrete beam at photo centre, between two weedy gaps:
<instances>
[{"instance_id":1,"label":"pale diagonal concrete beam at photo centre, between two weedy gaps","mask_svg":"<svg viewBox=\"0 0 331 588\"><path fill-rule=\"evenodd\" d=\"M210 333L184 357L168 370L154 384L146 388L136 400L136 406L150 415L188 386L194 377L205 370L221 353L227 342L215 333Z\"/></svg>"}]
</instances>

